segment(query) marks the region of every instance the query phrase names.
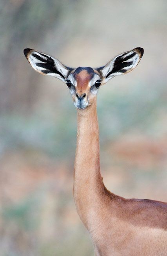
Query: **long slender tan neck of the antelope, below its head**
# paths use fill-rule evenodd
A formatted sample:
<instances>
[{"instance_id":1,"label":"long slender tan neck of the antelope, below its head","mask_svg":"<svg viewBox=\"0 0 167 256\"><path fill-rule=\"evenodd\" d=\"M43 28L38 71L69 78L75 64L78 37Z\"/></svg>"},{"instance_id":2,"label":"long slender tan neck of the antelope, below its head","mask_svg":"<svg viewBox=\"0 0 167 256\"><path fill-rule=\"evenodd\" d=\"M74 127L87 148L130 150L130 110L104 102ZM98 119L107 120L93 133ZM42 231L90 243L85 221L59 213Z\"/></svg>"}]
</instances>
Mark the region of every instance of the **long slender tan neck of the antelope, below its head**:
<instances>
[{"instance_id":1,"label":"long slender tan neck of the antelope, below its head","mask_svg":"<svg viewBox=\"0 0 167 256\"><path fill-rule=\"evenodd\" d=\"M76 158L74 164L74 200L85 226L101 204L104 191L100 174L99 130L96 100L86 109L78 109ZM89 218L88 218L89 215Z\"/></svg>"}]
</instances>

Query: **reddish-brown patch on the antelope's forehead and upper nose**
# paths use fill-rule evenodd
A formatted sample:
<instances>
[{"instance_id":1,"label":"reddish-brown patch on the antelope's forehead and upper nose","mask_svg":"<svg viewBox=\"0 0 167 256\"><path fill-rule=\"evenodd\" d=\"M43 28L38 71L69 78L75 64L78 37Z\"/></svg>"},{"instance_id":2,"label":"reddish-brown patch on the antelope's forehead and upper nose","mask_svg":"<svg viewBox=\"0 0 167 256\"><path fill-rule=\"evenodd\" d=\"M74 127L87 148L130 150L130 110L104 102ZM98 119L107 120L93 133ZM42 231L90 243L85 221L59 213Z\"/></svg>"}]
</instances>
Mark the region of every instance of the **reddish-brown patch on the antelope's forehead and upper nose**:
<instances>
[{"instance_id":1,"label":"reddish-brown patch on the antelope's forehead and upper nose","mask_svg":"<svg viewBox=\"0 0 167 256\"><path fill-rule=\"evenodd\" d=\"M87 91L88 83L92 78L92 74L88 73L87 70L82 70L81 72L76 74L75 77L77 82L76 93L85 93L85 91Z\"/></svg>"}]
</instances>

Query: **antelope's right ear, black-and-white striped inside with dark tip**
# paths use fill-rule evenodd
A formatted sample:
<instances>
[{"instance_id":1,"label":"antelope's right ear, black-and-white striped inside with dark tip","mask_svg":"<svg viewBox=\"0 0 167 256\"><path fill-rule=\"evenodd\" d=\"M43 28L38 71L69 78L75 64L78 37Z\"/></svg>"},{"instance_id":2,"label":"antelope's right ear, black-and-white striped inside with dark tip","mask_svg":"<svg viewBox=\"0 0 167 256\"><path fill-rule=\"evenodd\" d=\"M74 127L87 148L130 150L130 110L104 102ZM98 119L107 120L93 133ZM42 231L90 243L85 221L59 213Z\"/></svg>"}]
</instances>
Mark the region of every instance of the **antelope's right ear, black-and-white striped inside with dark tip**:
<instances>
[{"instance_id":1,"label":"antelope's right ear, black-and-white striped inside with dark tip","mask_svg":"<svg viewBox=\"0 0 167 256\"><path fill-rule=\"evenodd\" d=\"M104 67L96 69L102 75L103 83L108 82L114 76L126 74L133 70L138 65L143 53L143 48L134 48L129 52L123 52L116 56Z\"/></svg>"}]
</instances>

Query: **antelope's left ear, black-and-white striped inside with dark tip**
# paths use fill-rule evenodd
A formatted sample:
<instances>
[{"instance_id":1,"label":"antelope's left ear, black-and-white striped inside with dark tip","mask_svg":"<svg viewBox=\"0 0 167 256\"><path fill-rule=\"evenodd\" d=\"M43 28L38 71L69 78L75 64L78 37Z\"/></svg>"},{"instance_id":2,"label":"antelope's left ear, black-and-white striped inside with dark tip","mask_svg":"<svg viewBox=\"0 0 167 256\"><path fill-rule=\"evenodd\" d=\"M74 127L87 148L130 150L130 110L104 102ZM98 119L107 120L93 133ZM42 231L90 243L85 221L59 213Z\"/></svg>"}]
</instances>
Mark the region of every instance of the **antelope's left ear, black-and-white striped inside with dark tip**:
<instances>
[{"instance_id":1,"label":"antelope's left ear, black-and-white striped inside with dark tip","mask_svg":"<svg viewBox=\"0 0 167 256\"><path fill-rule=\"evenodd\" d=\"M40 74L54 76L63 82L71 72L71 68L65 67L58 59L33 49L24 49L24 55L33 67Z\"/></svg>"}]
</instances>

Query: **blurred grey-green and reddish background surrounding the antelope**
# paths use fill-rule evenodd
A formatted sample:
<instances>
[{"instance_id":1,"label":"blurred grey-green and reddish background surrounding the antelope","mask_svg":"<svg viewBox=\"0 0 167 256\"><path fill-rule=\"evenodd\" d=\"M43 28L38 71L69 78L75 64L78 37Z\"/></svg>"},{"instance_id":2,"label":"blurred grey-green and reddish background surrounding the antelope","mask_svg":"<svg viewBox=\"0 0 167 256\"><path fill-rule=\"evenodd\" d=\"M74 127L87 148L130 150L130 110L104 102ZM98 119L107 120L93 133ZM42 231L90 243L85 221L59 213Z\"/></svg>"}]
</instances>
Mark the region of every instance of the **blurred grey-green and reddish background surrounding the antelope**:
<instances>
[{"instance_id":1,"label":"blurred grey-green and reddish background surrounding the antelope","mask_svg":"<svg viewBox=\"0 0 167 256\"><path fill-rule=\"evenodd\" d=\"M166 0L0 1L0 256L94 255L72 194L76 109L24 48L70 67L144 48L99 90L102 176L120 196L167 200L166 14Z\"/></svg>"}]
</instances>

